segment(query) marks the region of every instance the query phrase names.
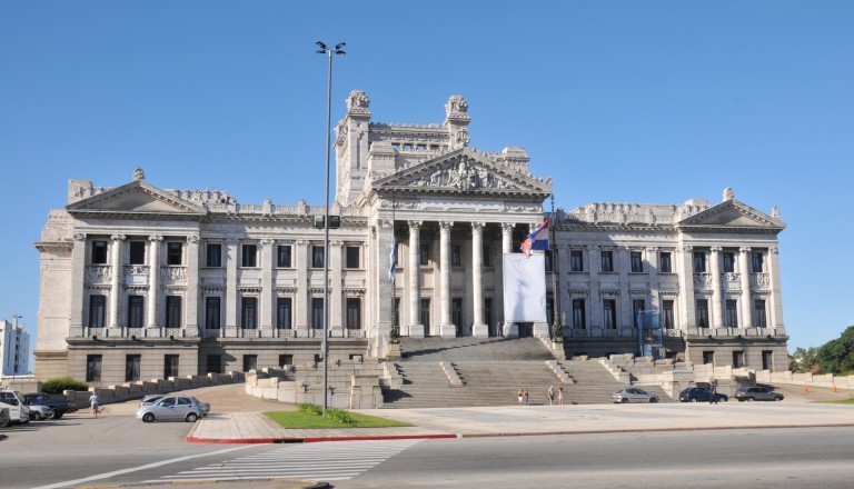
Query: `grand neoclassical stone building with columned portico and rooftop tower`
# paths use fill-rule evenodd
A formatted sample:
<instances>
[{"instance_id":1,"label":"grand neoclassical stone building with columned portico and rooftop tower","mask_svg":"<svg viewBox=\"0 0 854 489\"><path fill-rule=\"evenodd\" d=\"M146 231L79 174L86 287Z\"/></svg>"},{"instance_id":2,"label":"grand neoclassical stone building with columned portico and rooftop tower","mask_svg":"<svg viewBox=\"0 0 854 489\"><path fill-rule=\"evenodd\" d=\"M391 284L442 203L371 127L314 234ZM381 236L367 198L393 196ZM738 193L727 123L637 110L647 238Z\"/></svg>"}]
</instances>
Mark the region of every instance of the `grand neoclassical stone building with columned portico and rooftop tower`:
<instances>
[{"instance_id":1,"label":"grand neoclassical stone building with columned portico and rooftop tower","mask_svg":"<svg viewBox=\"0 0 854 489\"><path fill-rule=\"evenodd\" d=\"M567 355L639 351L783 369L777 234L727 190L721 203L590 203L552 219L547 323L504 323L503 253L544 217L550 180L522 148L469 147L467 102L440 124L371 122L354 91L336 128L340 227L324 207L244 204L226 191L71 180L41 252L36 375L93 386L385 357L403 336L562 336ZM396 266L389 271L391 249ZM555 301L555 297L559 300ZM644 311L646 315L637 315ZM637 321L642 323L638 325Z\"/></svg>"}]
</instances>

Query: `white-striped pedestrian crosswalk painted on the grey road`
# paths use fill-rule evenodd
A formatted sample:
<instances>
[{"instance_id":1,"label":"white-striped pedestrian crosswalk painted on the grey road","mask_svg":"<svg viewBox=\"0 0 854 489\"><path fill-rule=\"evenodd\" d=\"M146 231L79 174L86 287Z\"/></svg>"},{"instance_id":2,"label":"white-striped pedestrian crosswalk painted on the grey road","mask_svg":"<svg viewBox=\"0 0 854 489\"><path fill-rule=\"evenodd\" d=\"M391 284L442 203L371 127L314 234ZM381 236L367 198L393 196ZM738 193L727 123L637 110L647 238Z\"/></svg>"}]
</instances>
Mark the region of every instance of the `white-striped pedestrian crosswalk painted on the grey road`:
<instances>
[{"instance_id":1,"label":"white-striped pedestrian crosswalk painted on the grey road","mask_svg":"<svg viewBox=\"0 0 854 489\"><path fill-rule=\"evenodd\" d=\"M351 479L421 440L334 441L288 445L146 482L246 479Z\"/></svg>"}]
</instances>

